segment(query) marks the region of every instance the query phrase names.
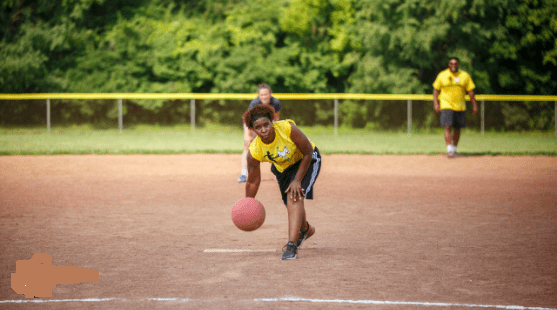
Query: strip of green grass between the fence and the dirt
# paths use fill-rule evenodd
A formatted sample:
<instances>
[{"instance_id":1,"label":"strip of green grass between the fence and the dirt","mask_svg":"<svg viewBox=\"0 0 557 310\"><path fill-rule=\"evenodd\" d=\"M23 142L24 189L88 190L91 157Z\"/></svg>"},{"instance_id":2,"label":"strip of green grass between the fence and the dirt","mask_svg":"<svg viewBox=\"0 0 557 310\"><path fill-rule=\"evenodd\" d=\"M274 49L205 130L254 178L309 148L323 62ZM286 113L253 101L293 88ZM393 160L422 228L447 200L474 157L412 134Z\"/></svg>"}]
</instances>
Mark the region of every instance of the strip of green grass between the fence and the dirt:
<instances>
[{"instance_id":1,"label":"strip of green grass between the fence and the dirt","mask_svg":"<svg viewBox=\"0 0 557 310\"><path fill-rule=\"evenodd\" d=\"M323 154L445 154L441 130L413 133L369 132L339 128L301 128ZM135 126L99 130L90 126L52 128L0 128L0 155L53 154L239 154L240 128L206 126L194 132L188 126ZM463 130L461 155L557 156L553 132L485 133Z\"/></svg>"}]
</instances>

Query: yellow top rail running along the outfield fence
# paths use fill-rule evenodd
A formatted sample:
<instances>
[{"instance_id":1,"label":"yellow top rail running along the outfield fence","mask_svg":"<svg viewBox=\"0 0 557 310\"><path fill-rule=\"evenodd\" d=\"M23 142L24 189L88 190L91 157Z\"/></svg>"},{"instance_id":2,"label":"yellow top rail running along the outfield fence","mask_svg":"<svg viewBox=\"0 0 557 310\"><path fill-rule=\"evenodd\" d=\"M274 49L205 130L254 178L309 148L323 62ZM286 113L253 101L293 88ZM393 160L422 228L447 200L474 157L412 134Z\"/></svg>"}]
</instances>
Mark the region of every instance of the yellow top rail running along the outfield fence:
<instances>
[{"instance_id":1,"label":"yellow top rail running along the outfield fence","mask_svg":"<svg viewBox=\"0 0 557 310\"><path fill-rule=\"evenodd\" d=\"M200 100L251 100L256 94L210 94L210 93L37 93L37 94L0 94L0 100L30 99L200 99ZM281 100L422 100L432 101L433 95L391 95L391 94L291 94L274 93ZM469 100L468 96L466 96ZM533 95L476 95L481 101L557 101L557 96Z\"/></svg>"}]
</instances>

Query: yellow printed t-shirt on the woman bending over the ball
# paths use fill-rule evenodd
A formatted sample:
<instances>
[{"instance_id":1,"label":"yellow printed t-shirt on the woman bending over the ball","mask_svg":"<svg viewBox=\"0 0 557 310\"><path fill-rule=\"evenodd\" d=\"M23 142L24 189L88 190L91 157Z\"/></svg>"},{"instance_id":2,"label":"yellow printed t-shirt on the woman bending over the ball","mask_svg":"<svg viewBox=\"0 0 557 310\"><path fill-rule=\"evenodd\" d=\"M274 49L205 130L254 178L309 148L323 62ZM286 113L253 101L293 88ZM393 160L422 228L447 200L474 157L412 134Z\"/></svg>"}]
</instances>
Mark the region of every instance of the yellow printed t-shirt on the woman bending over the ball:
<instances>
[{"instance_id":1,"label":"yellow printed t-shirt on the woman bending over the ball","mask_svg":"<svg viewBox=\"0 0 557 310\"><path fill-rule=\"evenodd\" d=\"M292 127L290 123L296 125L293 120L287 119L273 123L275 129L275 140L270 144L265 144L257 136L250 144L249 151L251 156L260 162L270 162L275 165L279 172L295 164L304 157L296 143L290 138ZM315 144L310 140L311 147L315 149Z\"/></svg>"}]
</instances>

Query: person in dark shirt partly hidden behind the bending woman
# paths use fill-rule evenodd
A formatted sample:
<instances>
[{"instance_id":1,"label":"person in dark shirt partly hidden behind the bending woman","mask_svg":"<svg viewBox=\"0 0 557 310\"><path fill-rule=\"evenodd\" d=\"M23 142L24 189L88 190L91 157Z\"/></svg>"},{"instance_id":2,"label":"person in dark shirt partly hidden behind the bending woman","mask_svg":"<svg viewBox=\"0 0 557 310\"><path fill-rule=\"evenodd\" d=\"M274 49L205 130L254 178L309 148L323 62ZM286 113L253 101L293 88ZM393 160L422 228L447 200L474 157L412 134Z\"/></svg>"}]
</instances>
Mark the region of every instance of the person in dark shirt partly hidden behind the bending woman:
<instances>
[{"instance_id":1,"label":"person in dark shirt partly hidden behind the bending woman","mask_svg":"<svg viewBox=\"0 0 557 310\"><path fill-rule=\"evenodd\" d=\"M279 120L281 104L280 101L271 96L271 87L265 83L259 84L257 86L257 98L253 99L248 106L248 110L253 108L258 104L268 104L275 109L274 122ZM238 183L246 182L246 176L248 174L248 162L247 156L249 152L249 145L257 135L253 130L249 129L246 124L244 124L244 151L242 152L242 171L240 177L238 178Z\"/></svg>"}]
</instances>

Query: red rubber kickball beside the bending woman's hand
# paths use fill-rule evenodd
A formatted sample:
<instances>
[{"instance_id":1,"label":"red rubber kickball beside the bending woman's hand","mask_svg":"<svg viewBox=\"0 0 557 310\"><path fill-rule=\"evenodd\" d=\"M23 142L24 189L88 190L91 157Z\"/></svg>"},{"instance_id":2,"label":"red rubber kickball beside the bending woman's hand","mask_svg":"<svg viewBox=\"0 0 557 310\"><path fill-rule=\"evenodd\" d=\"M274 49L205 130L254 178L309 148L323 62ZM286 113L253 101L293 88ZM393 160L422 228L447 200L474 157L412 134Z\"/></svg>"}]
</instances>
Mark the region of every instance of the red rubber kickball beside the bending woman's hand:
<instances>
[{"instance_id":1,"label":"red rubber kickball beside the bending woman's hand","mask_svg":"<svg viewBox=\"0 0 557 310\"><path fill-rule=\"evenodd\" d=\"M246 197L232 208L232 222L243 231L252 231L265 222L265 208L255 198Z\"/></svg>"}]
</instances>

